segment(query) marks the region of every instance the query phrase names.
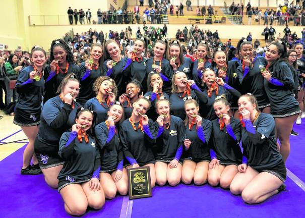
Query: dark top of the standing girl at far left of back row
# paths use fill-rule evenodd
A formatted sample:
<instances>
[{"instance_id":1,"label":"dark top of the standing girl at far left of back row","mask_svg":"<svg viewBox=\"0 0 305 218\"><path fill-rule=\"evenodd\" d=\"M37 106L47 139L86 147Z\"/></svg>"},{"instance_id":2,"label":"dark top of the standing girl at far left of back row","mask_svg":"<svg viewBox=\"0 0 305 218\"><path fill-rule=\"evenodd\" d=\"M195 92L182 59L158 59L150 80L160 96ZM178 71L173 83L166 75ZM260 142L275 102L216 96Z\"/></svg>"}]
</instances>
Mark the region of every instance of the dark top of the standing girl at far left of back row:
<instances>
[{"instance_id":1,"label":"dark top of the standing girl at far left of back row","mask_svg":"<svg viewBox=\"0 0 305 218\"><path fill-rule=\"evenodd\" d=\"M28 66L19 72L16 83L16 89L19 94L16 108L30 113L40 113L44 78L42 75L39 81L30 80L29 75L33 70L32 66Z\"/></svg>"}]
</instances>

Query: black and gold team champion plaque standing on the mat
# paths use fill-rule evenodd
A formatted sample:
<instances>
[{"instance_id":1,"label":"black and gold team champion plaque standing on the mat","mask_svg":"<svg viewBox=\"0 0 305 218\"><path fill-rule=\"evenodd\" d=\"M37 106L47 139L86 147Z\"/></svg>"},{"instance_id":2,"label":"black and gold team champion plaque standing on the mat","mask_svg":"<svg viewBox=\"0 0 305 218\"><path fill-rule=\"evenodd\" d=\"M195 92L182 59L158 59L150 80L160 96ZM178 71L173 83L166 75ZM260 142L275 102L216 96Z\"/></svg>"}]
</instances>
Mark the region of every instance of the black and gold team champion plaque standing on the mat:
<instances>
[{"instance_id":1,"label":"black and gold team champion plaque standing on the mat","mask_svg":"<svg viewBox=\"0 0 305 218\"><path fill-rule=\"evenodd\" d=\"M129 199L151 197L149 167L128 168Z\"/></svg>"}]
</instances>

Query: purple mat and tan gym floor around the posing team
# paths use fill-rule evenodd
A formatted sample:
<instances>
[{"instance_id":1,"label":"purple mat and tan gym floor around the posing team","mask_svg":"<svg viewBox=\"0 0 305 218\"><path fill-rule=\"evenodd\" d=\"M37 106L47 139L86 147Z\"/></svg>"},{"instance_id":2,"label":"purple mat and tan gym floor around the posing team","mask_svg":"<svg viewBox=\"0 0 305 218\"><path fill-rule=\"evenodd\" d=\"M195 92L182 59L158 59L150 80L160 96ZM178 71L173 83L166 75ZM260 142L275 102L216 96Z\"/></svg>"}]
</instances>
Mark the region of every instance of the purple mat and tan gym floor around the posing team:
<instances>
[{"instance_id":1,"label":"purple mat and tan gym floor around the posing team","mask_svg":"<svg viewBox=\"0 0 305 218\"><path fill-rule=\"evenodd\" d=\"M0 120L0 217L70 217L57 190L50 189L43 176L22 176L22 154L27 144L13 118ZM291 154L287 161L287 190L257 205L243 203L240 196L209 185L180 184L155 187L152 198L129 200L117 196L107 200L99 211L89 210L83 217L305 217L305 159L302 139L305 119L291 136ZM21 140L20 142L5 144Z\"/></svg>"}]
</instances>

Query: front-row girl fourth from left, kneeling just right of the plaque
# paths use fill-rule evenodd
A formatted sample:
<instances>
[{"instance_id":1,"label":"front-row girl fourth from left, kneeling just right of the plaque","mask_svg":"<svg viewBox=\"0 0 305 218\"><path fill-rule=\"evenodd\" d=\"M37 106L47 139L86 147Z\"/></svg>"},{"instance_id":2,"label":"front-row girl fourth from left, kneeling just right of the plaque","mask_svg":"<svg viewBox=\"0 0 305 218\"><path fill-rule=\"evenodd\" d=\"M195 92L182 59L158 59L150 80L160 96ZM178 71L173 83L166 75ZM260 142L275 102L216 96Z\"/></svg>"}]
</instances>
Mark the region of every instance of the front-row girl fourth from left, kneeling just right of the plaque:
<instances>
[{"instance_id":1,"label":"front-row girl fourth from left, kneeling just right of the plaque","mask_svg":"<svg viewBox=\"0 0 305 218\"><path fill-rule=\"evenodd\" d=\"M156 182L163 186L168 182L175 186L181 180L182 162L179 161L183 151L186 132L183 121L169 114L169 101L160 99L156 102L159 114L156 126L163 126L163 133L156 140Z\"/></svg>"}]
</instances>

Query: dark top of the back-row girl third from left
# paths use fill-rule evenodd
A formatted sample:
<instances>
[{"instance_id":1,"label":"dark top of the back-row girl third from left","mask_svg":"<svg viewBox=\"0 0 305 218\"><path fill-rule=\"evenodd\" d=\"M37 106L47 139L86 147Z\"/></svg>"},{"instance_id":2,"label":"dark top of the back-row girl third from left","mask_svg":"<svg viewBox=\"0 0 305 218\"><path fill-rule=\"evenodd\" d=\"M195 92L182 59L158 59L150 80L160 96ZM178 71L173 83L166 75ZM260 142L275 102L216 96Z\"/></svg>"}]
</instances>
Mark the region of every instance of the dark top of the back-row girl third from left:
<instances>
[{"instance_id":1,"label":"dark top of the back-row girl third from left","mask_svg":"<svg viewBox=\"0 0 305 218\"><path fill-rule=\"evenodd\" d=\"M97 69L93 67L89 75L88 73L86 74L87 69L85 67L85 62L80 65L80 69L80 91L76 99L81 105L85 105L87 100L96 96L95 92L93 91L93 83L98 77L103 75L103 72L102 66L99 65Z\"/></svg>"}]
</instances>

